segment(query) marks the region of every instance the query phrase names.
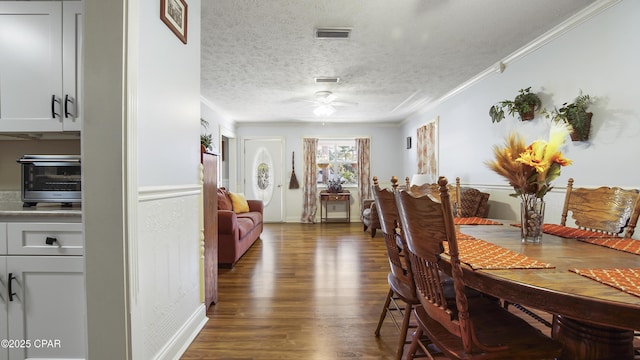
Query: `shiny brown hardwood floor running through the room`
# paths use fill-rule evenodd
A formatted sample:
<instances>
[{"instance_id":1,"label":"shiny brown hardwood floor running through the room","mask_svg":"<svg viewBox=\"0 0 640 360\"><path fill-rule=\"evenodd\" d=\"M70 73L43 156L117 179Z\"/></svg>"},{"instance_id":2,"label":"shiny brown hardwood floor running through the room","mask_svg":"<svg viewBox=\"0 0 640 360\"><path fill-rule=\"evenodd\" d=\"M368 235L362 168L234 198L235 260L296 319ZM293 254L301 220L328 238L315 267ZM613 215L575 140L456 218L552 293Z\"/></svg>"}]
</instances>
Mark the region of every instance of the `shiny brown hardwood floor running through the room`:
<instances>
[{"instance_id":1,"label":"shiny brown hardwood floor running through the room","mask_svg":"<svg viewBox=\"0 0 640 360\"><path fill-rule=\"evenodd\" d=\"M182 359L394 359L389 317L374 335L388 271L382 234L361 223L266 224L235 268L220 269L218 303Z\"/></svg>"}]
</instances>

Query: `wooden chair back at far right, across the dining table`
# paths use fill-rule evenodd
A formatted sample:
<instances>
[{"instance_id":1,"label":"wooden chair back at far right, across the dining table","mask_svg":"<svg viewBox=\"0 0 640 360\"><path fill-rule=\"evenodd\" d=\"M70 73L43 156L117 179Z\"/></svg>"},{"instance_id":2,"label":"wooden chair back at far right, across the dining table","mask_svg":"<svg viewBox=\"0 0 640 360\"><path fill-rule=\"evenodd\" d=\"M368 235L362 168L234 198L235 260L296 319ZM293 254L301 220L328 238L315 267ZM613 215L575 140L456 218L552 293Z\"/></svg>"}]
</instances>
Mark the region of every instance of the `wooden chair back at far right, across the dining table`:
<instances>
[{"instance_id":1,"label":"wooden chair back at far right, across the dining table","mask_svg":"<svg viewBox=\"0 0 640 360\"><path fill-rule=\"evenodd\" d=\"M638 189L574 188L573 178L570 178L560 225L566 226L571 212L571 218L580 229L618 236L626 228L625 236L631 237L640 213L639 196Z\"/></svg>"}]
</instances>

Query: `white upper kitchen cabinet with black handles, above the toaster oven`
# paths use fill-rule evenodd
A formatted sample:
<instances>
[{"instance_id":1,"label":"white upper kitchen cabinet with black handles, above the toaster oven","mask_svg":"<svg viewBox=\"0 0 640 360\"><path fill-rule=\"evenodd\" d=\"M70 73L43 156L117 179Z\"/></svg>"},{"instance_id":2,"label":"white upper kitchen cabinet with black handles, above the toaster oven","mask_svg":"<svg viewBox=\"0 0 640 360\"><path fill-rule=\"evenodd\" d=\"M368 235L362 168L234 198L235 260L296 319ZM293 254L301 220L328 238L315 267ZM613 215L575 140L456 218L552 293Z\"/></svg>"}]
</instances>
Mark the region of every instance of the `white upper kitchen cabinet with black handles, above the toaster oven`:
<instances>
[{"instance_id":1,"label":"white upper kitchen cabinet with black handles, above the toaster oven","mask_svg":"<svg viewBox=\"0 0 640 360\"><path fill-rule=\"evenodd\" d=\"M0 1L0 132L80 131L82 1Z\"/></svg>"}]
</instances>

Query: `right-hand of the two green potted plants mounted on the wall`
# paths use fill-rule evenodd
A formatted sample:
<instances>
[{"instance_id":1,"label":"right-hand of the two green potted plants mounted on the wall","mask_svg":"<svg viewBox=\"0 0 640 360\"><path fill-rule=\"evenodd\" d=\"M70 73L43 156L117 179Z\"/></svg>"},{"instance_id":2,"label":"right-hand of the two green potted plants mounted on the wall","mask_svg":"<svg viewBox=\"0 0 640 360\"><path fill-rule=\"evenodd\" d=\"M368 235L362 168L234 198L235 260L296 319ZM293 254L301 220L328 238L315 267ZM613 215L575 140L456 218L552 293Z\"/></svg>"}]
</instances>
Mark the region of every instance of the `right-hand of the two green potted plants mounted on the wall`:
<instances>
[{"instance_id":1,"label":"right-hand of the two green potted plants mounted on the wall","mask_svg":"<svg viewBox=\"0 0 640 360\"><path fill-rule=\"evenodd\" d=\"M546 114L553 121L562 121L568 123L573 128L571 140L586 141L589 140L589 132L591 130L592 112L588 112L587 108L593 103L593 99L582 91L578 97L571 103L564 103L560 109L554 109Z\"/></svg>"}]
</instances>

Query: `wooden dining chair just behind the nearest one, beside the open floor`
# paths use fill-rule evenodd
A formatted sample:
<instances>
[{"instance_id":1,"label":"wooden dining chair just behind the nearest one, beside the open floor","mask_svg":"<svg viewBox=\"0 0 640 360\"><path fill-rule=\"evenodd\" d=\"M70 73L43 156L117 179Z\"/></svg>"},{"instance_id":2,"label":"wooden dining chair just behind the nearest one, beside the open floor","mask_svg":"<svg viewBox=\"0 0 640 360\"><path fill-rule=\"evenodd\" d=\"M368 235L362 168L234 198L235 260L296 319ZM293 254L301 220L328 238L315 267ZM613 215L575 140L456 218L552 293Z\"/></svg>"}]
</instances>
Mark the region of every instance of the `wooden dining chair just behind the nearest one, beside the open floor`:
<instances>
[{"instance_id":1,"label":"wooden dining chair just behind the nearest one, beside the open floor","mask_svg":"<svg viewBox=\"0 0 640 360\"><path fill-rule=\"evenodd\" d=\"M404 253L406 246L403 245L404 239L397 231L398 228L398 209L394 192L398 187L398 178L391 178L392 188L380 189L378 178L373 178L373 195L378 210L378 218L380 220L380 228L384 235L384 242L387 247L387 257L391 272L387 276L389 282L389 292L380 314L378 327L376 328L376 336L380 336L380 328L386 318L390 315L393 323L400 331L398 339L398 348L396 351L396 359L401 359L406 344L407 333L409 330L409 322L413 307L420 304L416 296L416 288L413 282L413 274L408 259ZM399 304L401 301L403 304ZM394 314L402 316L402 322L399 325Z\"/></svg>"}]
</instances>

